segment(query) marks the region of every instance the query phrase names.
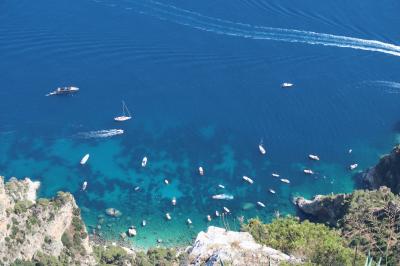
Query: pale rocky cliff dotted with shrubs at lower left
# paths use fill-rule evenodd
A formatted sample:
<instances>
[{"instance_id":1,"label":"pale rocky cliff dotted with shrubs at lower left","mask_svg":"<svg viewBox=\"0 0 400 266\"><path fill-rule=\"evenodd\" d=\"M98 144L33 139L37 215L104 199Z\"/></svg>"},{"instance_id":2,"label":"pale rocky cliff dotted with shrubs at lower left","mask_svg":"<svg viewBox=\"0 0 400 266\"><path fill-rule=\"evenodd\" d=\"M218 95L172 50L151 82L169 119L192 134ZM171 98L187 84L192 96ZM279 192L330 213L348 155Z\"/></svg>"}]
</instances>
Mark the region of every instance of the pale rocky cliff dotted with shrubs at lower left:
<instances>
[{"instance_id":1,"label":"pale rocky cliff dotted with shrubs at lower left","mask_svg":"<svg viewBox=\"0 0 400 266\"><path fill-rule=\"evenodd\" d=\"M36 200L38 182L0 177L0 265L43 256L94 265L79 208L69 193Z\"/></svg>"}]
</instances>

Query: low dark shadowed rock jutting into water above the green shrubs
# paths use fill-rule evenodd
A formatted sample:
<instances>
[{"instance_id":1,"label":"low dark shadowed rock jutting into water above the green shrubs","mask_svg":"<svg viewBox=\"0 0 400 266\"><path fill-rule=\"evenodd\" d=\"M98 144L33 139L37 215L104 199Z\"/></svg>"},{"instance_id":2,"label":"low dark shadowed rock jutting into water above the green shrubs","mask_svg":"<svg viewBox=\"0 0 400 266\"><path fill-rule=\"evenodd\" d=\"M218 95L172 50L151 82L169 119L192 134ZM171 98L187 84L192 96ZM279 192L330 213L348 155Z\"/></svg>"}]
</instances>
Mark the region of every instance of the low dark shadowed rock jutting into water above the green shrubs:
<instances>
[{"instance_id":1,"label":"low dark shadowed rock jutting into water above the green shrubs","mask_svg":"<svg viewBox=\"0 0 400 266\"><path fill-rule=\"evenodd\" d=\"M350 194L316 195L312 200L296 197L294 204L310 220L336 226L346 213L350 197Z\"/></svg>"}]
</instances>

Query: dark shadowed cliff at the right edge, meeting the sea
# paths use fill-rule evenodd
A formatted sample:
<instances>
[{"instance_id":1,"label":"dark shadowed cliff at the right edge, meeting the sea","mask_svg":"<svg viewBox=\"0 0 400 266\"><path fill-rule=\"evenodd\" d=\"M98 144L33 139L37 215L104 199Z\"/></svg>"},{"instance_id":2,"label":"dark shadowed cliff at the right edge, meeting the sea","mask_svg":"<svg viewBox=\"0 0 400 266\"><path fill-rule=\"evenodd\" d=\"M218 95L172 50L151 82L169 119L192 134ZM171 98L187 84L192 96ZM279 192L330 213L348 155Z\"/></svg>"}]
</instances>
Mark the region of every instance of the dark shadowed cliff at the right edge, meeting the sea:
<instances>
[{"instance_id":1,"label":"dark shadowed cliff at the right edge, meeting the sea","mask_svg":"<svg viewBox=\"0 0 400 266\"><path fill-rule=\"evenodd\" d=\"M395 146L390 154L383 156L375 167L365 171L362 179L369 189L386 186L393 193L399 194L400 145Z\"/></svg>"}]
</instances>

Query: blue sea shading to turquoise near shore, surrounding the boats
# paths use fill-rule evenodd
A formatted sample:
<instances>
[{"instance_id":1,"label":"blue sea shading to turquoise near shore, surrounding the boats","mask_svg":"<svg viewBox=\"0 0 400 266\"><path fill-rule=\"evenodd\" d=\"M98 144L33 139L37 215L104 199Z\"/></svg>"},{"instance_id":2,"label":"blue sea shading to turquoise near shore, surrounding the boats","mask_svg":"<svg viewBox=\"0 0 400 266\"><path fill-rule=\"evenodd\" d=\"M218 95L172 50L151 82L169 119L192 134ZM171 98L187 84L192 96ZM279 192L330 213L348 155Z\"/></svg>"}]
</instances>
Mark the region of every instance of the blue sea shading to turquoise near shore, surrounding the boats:
<instances>
[{"instance_id":1,"label":"blue sea shading to turquoise near shore, surrounding the boats","mask_svg":"<svg viewBox=\"0 0 400 266\"><path fill-rule=\"evenodd\" d=\"M40 196L70 191L91 233L116 241L134 225L139 247L352 191L400 140L399 11L397 0L0 0L0 175L40 180ZM71 85L80 92L45 97ZM133 119L116 123L122 100ZM125 133L96 133L110 129ZM103 218L109 207L122 216Z\"/></svg>"}]
</instances>

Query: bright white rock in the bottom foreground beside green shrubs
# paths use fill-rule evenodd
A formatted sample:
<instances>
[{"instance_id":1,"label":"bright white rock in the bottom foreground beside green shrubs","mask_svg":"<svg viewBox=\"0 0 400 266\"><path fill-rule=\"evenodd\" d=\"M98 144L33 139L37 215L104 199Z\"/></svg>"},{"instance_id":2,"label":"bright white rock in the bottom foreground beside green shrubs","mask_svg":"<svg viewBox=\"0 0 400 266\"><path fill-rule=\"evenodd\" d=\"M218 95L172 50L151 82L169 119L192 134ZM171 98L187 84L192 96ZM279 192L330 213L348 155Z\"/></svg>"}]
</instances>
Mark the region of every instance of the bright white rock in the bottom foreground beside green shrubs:
<instances>
[{"instance_id":1,"label":"bright white rock in the bottom foreground beside green shrubs","mask_svg":"<svg viewBox=\"0 0 400 266\"><path fill-rule=\"evenodd\" d=\"M226 231L210 226L200 232L189 254L190 265L279 265L300 260L256 243L247 232ZM270 263L270 264L269 264Z\"/></svg>"}]
</instances>

